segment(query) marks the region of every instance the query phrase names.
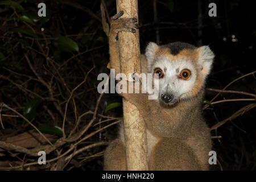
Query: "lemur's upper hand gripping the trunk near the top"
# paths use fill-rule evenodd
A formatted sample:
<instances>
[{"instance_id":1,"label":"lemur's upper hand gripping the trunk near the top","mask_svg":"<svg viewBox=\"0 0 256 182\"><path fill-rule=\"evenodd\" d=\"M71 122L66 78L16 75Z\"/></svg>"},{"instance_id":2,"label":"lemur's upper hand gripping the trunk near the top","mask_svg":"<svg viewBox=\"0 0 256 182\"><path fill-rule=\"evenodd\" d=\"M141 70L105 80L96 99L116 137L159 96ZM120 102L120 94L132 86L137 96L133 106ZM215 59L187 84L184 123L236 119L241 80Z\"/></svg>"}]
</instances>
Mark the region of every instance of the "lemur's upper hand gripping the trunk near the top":
<instances>
[{"instance_id":1,"label":"lemur's upper hand gripping the trunk near the top","mask_svg":"<svg viewBox=\"0 0 256 182\"><path fill-rule=\"evenodd\" d=\"M114 37L118 40L118 32L132 32L135 33L136 30L134 28L139 28L137 22L137 18L120 18L123 15L123 11L119 11L118 14L115 14L110 19L110 32L109 37Z\"/></svg>"}]
</instances>

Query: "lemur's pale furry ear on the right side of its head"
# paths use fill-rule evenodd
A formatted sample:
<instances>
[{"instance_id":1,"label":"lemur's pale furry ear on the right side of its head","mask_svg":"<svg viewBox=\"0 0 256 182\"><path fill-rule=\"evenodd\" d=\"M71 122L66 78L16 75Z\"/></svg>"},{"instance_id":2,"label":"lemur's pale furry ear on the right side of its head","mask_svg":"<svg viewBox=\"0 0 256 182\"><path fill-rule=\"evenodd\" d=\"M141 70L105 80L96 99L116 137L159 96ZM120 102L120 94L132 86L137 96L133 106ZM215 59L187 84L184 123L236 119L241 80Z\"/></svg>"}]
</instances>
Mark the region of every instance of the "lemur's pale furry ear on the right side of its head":
<instances>
[{"instance_id":1,"label":"lemur's pale furry ear on the right side of its head","mask_svg":"<svg viewBox=\"0 0 256 182\"><path fill-rule=\"evenodd\" d=\"M201 46L197 49L199 51L199 64L202 67L201 73L207 76L212 68L214 53L210 50L209 46Z\"/></svg>"}]
</instances>

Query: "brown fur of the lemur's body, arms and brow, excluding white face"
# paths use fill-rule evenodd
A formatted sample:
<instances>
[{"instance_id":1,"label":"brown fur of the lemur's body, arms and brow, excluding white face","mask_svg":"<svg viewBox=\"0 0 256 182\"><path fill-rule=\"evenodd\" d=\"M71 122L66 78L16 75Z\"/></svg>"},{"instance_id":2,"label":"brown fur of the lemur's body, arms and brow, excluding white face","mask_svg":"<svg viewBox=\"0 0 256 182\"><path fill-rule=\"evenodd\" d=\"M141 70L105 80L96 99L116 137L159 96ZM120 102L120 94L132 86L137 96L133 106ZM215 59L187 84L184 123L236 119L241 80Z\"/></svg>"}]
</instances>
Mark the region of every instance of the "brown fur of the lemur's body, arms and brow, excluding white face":
<instances>
[{"instance_id":1,"label":"brown fur of the lemur's body, arms and brow, excluding white face","mask_svg":"<svg viewBox=\"0 0 256 182\"><path fill-rule=\"evenodd\" d=\"M109 46L110 63L119 73L119 51L114 39L117 29L111 24ZM118 25L117 28L120 26ZM123 30L122 30L123 31ZM176 56L168 48L157 48L155 56L168 55L172 59L190 57L199 59L196 51L183 49ZM142 55L142 72L147 72L146 59ZM212 147L209 127L201 116L201 101L204 96L204 76L199 76L191 98L182 100L172 107L163 107L155 100L148 100L147 94L122 94L134 104L146 123L148 164L151 170L208 170L208 152ZM153 138L153 139L151 139ZM122 139L122 137L121 137ZM104 154L105 170L126 170L125 146L123 140L116 139Z\"/></svg>"}]
</instances>

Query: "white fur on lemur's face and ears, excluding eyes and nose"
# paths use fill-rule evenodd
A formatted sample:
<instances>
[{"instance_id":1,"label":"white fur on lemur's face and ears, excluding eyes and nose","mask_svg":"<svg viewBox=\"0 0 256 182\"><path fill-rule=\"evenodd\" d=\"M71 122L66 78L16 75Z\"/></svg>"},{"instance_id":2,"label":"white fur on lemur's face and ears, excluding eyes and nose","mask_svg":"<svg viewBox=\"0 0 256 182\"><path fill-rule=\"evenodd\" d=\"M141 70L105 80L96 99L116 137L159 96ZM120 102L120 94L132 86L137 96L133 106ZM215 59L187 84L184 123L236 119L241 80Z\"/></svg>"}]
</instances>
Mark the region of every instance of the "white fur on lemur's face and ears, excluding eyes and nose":
<instances>
[{"instance_id":1,"label":"white fur on lemur's face and ears, excluding eyes and nose","mask_svg":"<svg viewBox=\"0 0 256 182\"><path fill-rule=\"evenodd\" d=\"M205 78L209 75L214 59L214 53L209 46L202 46L195 51L199 53L199 60L192 61L189 57L183 59L171 60L170 57L162 55L155 56L160 47L150 42L146 48L148 73L154 73L155 68L162 69L163 77L159 78L159 97L158 101L162 102L162 94L172 94L174 98L167 105L173 105L179 100L191 97L189 92L195 87L196 80L200 76L201 85L204 85ZM183 69L188 69L191 76L187 80L180 78Z\"/></svg>"}]
</instances>

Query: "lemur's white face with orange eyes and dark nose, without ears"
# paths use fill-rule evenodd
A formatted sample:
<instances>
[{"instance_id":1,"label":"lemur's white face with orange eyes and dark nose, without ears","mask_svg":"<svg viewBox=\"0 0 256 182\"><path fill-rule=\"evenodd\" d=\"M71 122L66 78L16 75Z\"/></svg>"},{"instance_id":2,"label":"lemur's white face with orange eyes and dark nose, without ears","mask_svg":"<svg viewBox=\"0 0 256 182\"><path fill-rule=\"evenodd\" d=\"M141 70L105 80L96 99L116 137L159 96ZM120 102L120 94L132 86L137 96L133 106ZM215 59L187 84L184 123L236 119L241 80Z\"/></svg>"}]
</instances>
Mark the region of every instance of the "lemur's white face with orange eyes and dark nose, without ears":
<instances>
[{"instance_id":1,"label":"lemur's white face with orange eyes and dark nose, without ears","mask_svg":"<svg viewBox=\"0 0 256 182\"><path fill-rule=\"evenodd\" d=\"M163 104L173 105L188 98L188 93L195 86L197 69L188 58L173 60L168 56L157 57L151 67L156 73L159 85L158 100Z\"/></svg>"}]
</instances>

